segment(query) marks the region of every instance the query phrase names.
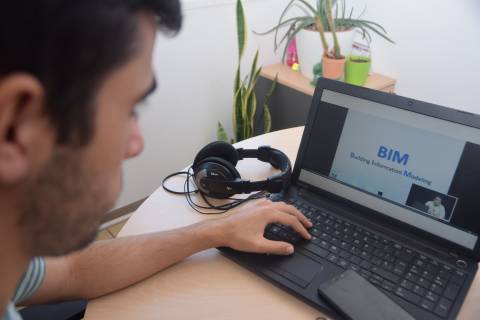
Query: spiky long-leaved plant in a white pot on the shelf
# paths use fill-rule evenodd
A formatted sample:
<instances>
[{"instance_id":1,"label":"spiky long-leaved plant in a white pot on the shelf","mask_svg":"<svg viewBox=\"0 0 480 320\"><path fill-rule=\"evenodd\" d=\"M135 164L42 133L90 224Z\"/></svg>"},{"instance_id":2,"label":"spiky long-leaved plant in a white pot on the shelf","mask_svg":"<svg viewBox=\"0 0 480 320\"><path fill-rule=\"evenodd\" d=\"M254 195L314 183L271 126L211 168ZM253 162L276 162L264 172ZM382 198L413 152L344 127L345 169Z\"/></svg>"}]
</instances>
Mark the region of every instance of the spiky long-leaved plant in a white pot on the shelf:
<instances>
[{"instance_id":1,"label":"spiky long-leaved plant in a white pot on the shelf","mask_svg":"<svg viewBox=\"0 0 480 320\"><path fill-rule=\"evenodd\" d=\"M327 0L317 0L313 6L305 0L291 0L283 10L276 26L258 34L275 33L275 50L286 43L285 48L297 38L297 50L302 73L313 78L313 67L318 64L324 55L324 44L319 43L317 21L324 27L324 38L328 47L334 47L333 32L329 23L328 15L332 15L333 27L340 47L340 54L349 56L356 30L359 30L368 41L372 39L372 33L379 35L387 41L393 41L387 36L386 30L376 22L362 19L363 11L354 17L354 8L347 10L345 0L330 0L331 10L327 10ZM300 12L295 14L294 10ZM294 17L287 17L294 13ZM281 29L287 31L280 33ZM285 51L284 51L285 57Z\"/></svg>"}]
</instances>

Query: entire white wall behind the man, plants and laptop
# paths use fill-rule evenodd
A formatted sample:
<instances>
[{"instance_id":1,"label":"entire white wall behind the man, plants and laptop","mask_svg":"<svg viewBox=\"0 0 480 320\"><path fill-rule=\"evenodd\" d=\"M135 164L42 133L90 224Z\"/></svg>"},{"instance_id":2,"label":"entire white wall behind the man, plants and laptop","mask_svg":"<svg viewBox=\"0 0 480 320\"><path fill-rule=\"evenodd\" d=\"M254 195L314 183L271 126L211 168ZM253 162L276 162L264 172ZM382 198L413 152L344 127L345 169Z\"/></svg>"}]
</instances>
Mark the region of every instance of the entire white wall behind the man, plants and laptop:
<instances>
[{"instance_id":1,"label":"entire white wall behind the man, plants and laptop","mask_svg":"<svg viewBox=\"0 0 480 320\"><path fill-rule=\"evenodd\" d=\"M250 28L274 25L287 0L244 0ZM382 24L396 41L375 38L373 70L395 77L397 93L480 113L480 1L347 0ZM154 191L161 179L186 167L215 139L216 123L231 128L237 61L235 0L184 0L184 26L159 36L155 69L159 90L140 112L146 149L125 165L118 206ZM263 64L280 61L271 36L250 33L246 62L261 50Z\"/></svg>"}]
</instances>

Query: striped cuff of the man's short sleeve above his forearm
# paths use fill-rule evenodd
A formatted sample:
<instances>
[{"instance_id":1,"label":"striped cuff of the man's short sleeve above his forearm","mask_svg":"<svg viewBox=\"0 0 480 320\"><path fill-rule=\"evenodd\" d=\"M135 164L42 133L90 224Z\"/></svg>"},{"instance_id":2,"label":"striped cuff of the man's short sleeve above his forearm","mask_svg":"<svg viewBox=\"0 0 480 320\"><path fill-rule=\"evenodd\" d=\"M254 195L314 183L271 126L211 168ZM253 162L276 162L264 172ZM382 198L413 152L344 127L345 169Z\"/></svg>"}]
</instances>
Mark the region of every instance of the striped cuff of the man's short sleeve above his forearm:
<instances>
[{"instance_id":1,"label":"striped cuff of the man's short sleeve above his forearm","mask_svg":"<svg viewBox=\"0 0 480 320\"><path fill-rule=\"evenodd\" d=\"M28 299L42 284L45 276L45 259L34 258L28 265L27 271L22 280L18 283L15 294L12 298L14 304L21 303Z\"/></svg>"}]
</instances>

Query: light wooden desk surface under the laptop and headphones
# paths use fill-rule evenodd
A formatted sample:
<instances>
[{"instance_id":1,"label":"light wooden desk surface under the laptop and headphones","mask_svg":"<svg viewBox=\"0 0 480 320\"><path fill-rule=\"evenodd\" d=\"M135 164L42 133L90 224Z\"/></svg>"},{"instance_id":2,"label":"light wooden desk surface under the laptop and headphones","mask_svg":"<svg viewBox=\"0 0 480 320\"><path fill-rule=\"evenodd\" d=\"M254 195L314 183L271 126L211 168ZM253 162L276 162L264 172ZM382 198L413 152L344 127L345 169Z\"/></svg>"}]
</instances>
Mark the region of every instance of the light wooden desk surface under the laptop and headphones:
<instances>
[{"instance_id":1,"label":"light wooden desk surface under the laptop and headphones","mask_svg":"<svg viewBox=\"0 0 480 320\"><path fill-rule=\"evenodd\" d=\"M242 141L237 147L270 145L283 150L293 162L302 132L303 127L281 130ZM252 159L240 161L237 168L251 179L272 173L269 165ZM180 179L171 185L175 183L183 187ZM132 215L120 236L168 230L213 218L194 212L183 196L167 194L159 188ZM478 319L478 301L479 276L459 319ZM216 249L210 249L136 285L91 301L85 319L315 320L321 316L318 310L224 258Z\"/></svg>"}]
</instances>

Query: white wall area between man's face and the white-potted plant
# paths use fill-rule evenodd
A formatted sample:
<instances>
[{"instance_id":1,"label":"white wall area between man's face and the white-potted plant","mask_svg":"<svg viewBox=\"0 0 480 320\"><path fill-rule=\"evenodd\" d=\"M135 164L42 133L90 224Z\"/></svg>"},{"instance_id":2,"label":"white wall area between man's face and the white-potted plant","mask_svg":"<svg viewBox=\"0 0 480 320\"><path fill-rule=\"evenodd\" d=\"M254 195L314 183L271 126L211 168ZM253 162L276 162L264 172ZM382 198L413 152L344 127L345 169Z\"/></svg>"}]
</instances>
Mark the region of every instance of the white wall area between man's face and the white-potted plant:
<instances>
[{"instance_id":1,"label":"white wall area between man's face and the white-potted plant","mask_svg":"<svg viewBox=\"0 0 480 320\"><path fill-rule=\"evenodd\" d=\"M284 1L244 0L250 30L274 25ZM235 0L187 0L184 25L174 38L159 35L154 66L157 92L140 109L145 150L124 166L124 190L116 207L153 192L168 173L193 161L216 139L217 121L231 129L233 79L237 64ZM264 65L280 60L273 38L249 34L244 62L261 51ZM245 65L245 71L248 65Z\"/></svg>"}]
</instances>

